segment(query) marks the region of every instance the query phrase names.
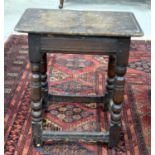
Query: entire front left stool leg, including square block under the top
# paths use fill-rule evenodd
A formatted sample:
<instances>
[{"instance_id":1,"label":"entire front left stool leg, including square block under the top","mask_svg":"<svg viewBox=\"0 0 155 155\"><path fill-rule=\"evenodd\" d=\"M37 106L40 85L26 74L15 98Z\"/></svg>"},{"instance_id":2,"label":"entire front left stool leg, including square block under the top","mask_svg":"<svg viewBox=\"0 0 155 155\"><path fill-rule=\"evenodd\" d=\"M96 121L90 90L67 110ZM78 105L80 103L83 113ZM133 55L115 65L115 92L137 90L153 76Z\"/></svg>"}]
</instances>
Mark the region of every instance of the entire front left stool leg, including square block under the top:
<instances>
[{"instance_id":1,"label":"entire front left stool leg, including square block under the top","mask_svg":"<svg viewBox=\"0 0 155 155\"><path fill-rule=\"evenodd\" d=\"M29 34L29 59L31 63L32 138L35 147L42 145L42 93L40 36Z\"/></svg>"}]
</instances>

